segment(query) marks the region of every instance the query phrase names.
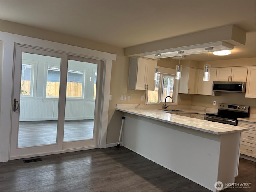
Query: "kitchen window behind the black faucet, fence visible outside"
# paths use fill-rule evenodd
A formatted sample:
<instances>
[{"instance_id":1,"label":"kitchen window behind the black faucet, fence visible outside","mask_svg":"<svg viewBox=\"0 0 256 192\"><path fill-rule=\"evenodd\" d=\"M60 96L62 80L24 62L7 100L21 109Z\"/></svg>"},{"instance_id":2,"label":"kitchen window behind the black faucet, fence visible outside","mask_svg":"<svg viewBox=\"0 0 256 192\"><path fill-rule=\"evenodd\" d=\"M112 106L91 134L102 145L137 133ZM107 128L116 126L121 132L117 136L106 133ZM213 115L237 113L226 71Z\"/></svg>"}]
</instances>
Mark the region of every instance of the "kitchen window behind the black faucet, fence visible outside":
<instances>
[{"instance_id":1,"label":"kitchen window behind the black faucet, fence visible outside","mask_svg":"<svg viewBox=\"0 0 256 192\"><path fill-rule=\"evenodd\" d=\"M147 103L164 102L166 96L171 96L175 102L178 94L175 92L174 80L175 76L173 74L159 73L155 83L155 90L147 92ZM166 102L172 102L171 98L167 98Z\"/></svg>"}]
</instances>

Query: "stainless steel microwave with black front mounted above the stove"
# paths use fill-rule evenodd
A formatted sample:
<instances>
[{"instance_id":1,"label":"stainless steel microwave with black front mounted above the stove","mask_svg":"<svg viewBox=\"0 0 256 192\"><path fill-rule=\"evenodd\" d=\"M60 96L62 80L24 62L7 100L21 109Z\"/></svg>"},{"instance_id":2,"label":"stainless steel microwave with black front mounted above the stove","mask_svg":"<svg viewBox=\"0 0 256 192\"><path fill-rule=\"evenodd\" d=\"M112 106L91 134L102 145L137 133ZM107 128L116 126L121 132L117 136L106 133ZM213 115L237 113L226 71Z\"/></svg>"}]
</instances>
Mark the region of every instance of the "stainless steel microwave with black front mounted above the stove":
<instances>
[{"instance_id":1,"label":"stainless steel microwave with black front mounted above the stove","mask_svg":"<svg viewBox=\"0 0 256 192\"><path fill-rule=\"evenodd\" d=\"M213 82L213 91L221 92L245 92L246 82L243 81L214 81Z\"/></svg>"}]
</instances>

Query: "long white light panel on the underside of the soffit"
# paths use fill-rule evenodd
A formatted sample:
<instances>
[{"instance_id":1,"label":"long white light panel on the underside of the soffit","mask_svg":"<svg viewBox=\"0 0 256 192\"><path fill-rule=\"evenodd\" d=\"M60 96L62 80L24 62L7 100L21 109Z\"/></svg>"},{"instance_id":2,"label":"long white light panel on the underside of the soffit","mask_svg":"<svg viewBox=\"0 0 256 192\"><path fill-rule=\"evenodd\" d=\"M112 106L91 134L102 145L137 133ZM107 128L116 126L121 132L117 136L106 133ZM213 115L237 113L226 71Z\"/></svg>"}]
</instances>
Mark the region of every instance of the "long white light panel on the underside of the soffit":
<instances>
[{"instance_id":1,"label":"long white light panel on the underside of the soffit","mask_svg":"<svg viewBox=\"0 0 256 192\"><path fill-rule=\"evenodd\" d=\"M200 54L200 53L208 52L208 50L205 49L208 47L213 47L213 49L210 50L210 52L220 51L220 50L230 50L234 48L233 45L221 41L221 42L213 42L208 44L199 44L199 45L186 46L186 47L180 47L180 48L172 48L172 49L160 50L155 52L148 52L148 53L142 54L142 56L147 58L152 58L152 59L175 57L175 56L180 56L180 54L178 53L180 52L180 50L183 50L182 56Z\"/></svg>"}]
</instances>

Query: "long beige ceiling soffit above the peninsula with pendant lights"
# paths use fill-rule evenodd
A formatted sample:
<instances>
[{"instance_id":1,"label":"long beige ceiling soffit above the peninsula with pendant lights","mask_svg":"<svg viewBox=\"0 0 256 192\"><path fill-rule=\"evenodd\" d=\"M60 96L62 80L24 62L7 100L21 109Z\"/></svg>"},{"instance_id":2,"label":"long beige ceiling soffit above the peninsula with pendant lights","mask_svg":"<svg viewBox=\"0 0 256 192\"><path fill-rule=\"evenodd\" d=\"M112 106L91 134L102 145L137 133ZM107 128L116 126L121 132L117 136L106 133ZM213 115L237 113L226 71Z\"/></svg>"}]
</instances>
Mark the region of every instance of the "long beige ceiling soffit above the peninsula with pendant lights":
<instances>
[{"instance_id":1,"label":"long beige ceiling soffit above the peninsula with pendant lights","mask_svg":"<svg viewBox=\"0 0 256 192\"><path fill-rule=\"evenodd\" d=\"M124 54L125 56L136 55L156 59L161 57L155 54L166 54L162 58L179 56L178 51L184 51L181 55L198 54L208 52L205 51L207 47L232 50L234 46L244 45L245 40L246 31L230 25L128 47L124 49ZM172 53L168 56L168 52Z\"/></svg>"}]
</instances>

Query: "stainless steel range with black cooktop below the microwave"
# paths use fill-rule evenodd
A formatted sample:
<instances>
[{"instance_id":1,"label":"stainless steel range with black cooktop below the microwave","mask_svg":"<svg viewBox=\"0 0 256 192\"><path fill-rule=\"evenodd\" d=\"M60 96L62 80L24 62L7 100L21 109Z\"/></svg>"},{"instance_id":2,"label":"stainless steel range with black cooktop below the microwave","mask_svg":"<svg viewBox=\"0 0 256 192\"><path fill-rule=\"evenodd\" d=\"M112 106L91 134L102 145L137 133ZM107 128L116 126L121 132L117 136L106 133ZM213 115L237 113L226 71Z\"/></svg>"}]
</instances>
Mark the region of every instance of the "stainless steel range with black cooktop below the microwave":
<instances>
[{"instance_id":1,"label":"stainless steel range with black cooktop below the microwave","mask_svg":"<svg viewBox=\"0 0 256 192\"><path fill-rule=\"evenodd\" d=\"M237 118L249 117L249 106L219 103L217 113L206 113L205 120L237 125Z\"/></svg>"}]
</instances>

